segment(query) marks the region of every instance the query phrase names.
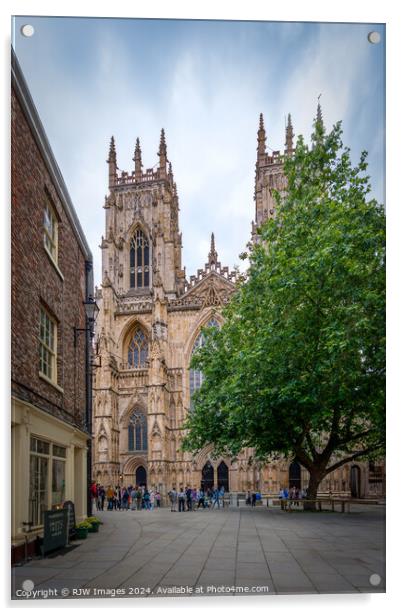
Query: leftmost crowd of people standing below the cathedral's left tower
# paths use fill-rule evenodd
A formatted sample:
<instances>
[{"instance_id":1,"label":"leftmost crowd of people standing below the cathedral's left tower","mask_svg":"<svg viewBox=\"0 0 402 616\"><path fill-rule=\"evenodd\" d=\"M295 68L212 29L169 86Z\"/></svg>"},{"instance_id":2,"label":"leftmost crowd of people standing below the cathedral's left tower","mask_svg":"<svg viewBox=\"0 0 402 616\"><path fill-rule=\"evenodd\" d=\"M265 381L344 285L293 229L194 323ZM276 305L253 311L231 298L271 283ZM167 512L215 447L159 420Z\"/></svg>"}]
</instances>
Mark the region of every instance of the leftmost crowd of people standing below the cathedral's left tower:
<instances>
[{"instance_id":1,"label":"leftmost crowd of people standing below the cathedral's left tower","mask_svg":"<svg viewBox=\"0 0 402 616\"><path fill-rule=\"evenodd\" d=\"M159 490L148 490L145 486L107 486L99 483L91 485L92 502L97 511L131 511L154 508L161 506Z\"/></svg>"}]
</instances>

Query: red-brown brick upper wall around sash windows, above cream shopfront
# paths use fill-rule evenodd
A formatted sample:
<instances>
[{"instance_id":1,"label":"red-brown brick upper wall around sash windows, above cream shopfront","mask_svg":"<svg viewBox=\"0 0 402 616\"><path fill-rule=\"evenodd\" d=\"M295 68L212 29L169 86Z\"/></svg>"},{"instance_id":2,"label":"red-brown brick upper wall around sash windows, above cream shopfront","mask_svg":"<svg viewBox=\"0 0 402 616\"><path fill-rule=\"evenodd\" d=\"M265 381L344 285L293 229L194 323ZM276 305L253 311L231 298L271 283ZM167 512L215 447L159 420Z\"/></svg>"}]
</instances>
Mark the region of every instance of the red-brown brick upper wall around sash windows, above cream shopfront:
<instances>
[{"instance_id":1,"label":"red-brown brick upper wall around sash windows, above cream shopfront","mask_svg":"<svg viewBox=\"0 0 402 616\"><path fill-rule=\"evenodd\" d=\"M74 348L74 326L85 327L85 257L52 185L15 93L11 119L11 378L18 397L83 426L85 334ZM43 244L46 190L59 217L60 278ZM39 318L44 304L57 328L57 382L39 377Z\"/></svg>"}]
</instances>

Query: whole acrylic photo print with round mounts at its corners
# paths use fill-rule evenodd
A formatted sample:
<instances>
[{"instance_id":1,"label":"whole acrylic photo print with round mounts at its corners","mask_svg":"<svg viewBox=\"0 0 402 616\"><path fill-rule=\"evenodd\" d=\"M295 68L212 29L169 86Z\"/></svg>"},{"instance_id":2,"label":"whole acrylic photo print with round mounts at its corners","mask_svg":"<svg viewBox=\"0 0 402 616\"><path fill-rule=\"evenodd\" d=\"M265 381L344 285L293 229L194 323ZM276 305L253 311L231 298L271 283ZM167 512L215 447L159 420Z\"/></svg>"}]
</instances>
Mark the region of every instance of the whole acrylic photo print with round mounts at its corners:
<instances>
[{"instance_id":1,"label":"whole acrylic photo print with round mounts at its corners","mask_svg":"<svg viewBox=\"0 0 402 616\"><path fill-rule=\"evenodd\" d=\"M13 18L13 599L385 592L385 36Z\"/></svg>"}]
</instances>

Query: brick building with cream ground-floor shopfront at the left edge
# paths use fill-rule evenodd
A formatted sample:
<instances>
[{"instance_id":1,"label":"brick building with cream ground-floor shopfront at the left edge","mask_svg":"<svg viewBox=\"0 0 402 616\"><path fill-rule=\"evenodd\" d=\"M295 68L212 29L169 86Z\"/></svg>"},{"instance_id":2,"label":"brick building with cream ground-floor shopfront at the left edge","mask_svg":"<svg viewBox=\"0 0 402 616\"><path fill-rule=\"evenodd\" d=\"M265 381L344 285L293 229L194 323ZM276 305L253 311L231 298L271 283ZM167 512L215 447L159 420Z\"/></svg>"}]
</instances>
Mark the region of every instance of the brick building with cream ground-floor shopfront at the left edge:
<instances>
[{"instance_id":1,"label":"brick building with cream ground-floor shopfront at the left edge","mask_svg":"<svg viewBox=\"0 0 402 616\"><path fill-rule=\"evenodd\" d=\"M15 55L11 107L12 551L45 510L86 515L92 255Z\"/></svg>"}]
</instances>

